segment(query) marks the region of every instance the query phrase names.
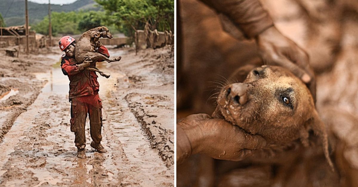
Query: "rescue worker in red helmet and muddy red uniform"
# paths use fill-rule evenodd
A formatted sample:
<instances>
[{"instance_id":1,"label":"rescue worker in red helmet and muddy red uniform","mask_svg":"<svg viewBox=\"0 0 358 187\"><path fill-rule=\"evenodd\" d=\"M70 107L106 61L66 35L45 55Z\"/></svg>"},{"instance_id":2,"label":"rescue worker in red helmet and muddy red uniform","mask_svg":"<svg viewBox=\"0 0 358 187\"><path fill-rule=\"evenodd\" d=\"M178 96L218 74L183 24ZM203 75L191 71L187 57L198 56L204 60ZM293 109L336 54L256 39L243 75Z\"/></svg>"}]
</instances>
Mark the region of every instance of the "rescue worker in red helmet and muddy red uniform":
<instances>
[{"instance_id":1,"label":"rescue worker in red helmet and muddy red uniform","mask_svg":"<svg viewBox=\"0 0 358 187\"><path fill-rule=\"evenodd\" d=\"M101 144L102 135L102 102L98 96L99 83L94 71L88 71L86 67L95 67L96 64L84 61L77 64L74 58L76 40L71 36L64 36L59 41L61 51L66 54L62 56L61 68L64 75L69 78L69 101L71 102L71 131L74 132L74 143L77 147L77 157L86 158L85 147L85 123L87 114L89 116L91 147L99 153L105 153L106 149ZM109 57L106 47L101 46L98 50L101 54Z\"/></svg>"}]
</instances>

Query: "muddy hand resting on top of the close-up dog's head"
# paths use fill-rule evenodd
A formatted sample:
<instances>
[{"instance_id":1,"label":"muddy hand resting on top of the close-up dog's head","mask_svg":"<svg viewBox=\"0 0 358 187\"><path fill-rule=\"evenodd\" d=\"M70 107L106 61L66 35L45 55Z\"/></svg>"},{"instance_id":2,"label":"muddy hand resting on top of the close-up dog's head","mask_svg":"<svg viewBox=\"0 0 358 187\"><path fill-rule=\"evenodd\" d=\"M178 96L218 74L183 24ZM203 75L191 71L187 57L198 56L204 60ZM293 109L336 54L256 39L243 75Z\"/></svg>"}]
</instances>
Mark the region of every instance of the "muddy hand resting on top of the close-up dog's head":
<instances>
[{"instance_id":1,"label":"muddy hand resting on top of the close-up dog's head","mask_svg":"<svg viewBox=\"0 0 358 187\"><path fill-rule=\"evenodd\" d=\"M309 87L315 100L316 82L313 69L309 65L308 54L295 42L282 35L276 27L266 29L255 39L264 62L290 69Z\"/></svg>"}]
</instances>

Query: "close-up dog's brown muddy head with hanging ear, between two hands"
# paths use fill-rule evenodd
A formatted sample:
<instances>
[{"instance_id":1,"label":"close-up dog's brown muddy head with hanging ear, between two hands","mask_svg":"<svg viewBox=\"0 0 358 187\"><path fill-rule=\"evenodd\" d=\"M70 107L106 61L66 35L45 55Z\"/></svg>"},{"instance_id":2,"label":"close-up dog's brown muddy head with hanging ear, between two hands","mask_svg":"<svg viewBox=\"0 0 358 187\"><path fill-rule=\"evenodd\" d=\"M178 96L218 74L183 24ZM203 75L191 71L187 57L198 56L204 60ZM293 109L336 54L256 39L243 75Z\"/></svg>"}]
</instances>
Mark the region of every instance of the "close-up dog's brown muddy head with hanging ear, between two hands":
<instances>
[{"instance_id":1,"label":"close-up dog's brown muddy head with hanging ear, between two hands","mask_svg":"<svg viewBox=\"0 0 358 187\"><path fill-rule=\"evenodd\" d=\"M273 144L301 140L308 145L310 133L319 137L328 157L325 126L315 110L306 85L290 71L261 66L242 83L229 84L217 99L219 114L250 134L260 134ZM312 134L312 133L311 133Z\"/></svg>"}]
</instances>

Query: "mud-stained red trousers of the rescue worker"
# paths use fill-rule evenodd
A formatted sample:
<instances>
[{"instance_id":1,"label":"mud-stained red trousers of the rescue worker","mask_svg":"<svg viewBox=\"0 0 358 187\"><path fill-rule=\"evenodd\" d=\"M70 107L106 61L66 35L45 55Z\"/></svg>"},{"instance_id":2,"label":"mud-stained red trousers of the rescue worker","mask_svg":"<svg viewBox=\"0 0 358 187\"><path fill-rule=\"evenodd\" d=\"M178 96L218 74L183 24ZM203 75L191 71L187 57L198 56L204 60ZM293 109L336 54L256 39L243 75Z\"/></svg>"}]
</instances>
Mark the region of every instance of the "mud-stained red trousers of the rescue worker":
<instances>
[{"instance_id":1,"label":"mud-stained red trousers of the rescue worker","mask_svg":"<svg viewBox=\"0 0 358 187\"><path fill-rule=\"evenodd\" d=\"M89 116L91 138L95 144L99 144L102 140L102 101L98 93L75 97L71 101L71 131L74 132L74 143L78 149L86 147L84 127L87 114Z\"/></svg>"}]
</instances>

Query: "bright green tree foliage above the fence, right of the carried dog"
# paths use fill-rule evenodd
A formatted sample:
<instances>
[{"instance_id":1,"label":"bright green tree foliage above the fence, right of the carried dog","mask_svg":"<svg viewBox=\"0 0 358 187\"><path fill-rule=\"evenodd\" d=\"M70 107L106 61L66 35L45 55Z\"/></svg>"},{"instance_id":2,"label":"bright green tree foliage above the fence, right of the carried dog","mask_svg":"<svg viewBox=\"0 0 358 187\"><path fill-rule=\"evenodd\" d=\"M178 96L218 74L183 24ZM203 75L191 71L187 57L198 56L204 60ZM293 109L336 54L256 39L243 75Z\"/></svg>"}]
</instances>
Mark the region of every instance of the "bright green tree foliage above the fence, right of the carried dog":
<instances>
[{"instance_id":1,"label":"bright green tree foliage above the fence, right of the carried dog","mask_svg":"<svg viewBox=\"0 0 358 187\"><path fill-rule=\"evenodd\" d=\"M106 11L108 24L129 37L148 22L151 29L174 32L174 0L95 0Z\"/></svg>"}]
</instances>

